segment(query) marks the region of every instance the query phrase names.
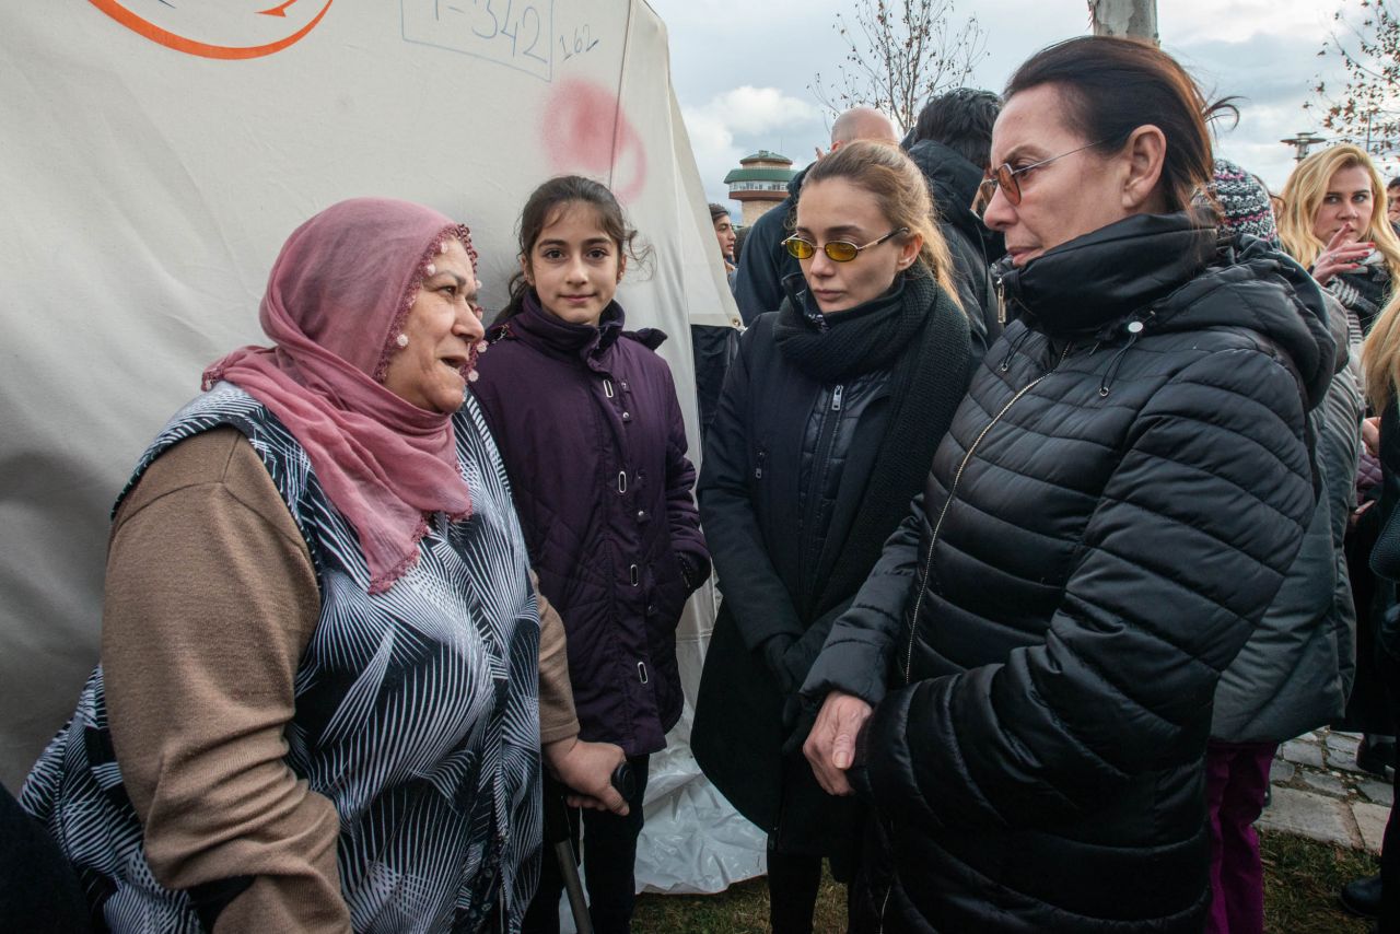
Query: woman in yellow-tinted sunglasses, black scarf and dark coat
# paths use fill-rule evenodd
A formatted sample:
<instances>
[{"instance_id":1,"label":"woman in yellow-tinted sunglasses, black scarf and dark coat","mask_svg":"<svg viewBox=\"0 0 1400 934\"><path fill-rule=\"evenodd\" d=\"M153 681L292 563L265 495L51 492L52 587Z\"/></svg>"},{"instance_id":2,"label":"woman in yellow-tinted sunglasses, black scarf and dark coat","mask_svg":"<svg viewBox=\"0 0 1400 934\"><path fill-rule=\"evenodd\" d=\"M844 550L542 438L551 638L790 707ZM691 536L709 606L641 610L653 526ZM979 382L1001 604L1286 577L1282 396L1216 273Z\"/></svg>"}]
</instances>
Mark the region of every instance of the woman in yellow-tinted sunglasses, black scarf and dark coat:
<instances>
[{"instance_id":1,"label":"woman in yellow-tinted sunglasses, black scarf and dark coat","mask_svg":"<svg viewBox=\"0 0 1400 934\"><path fill-rule=\"evenodd\" d=\"M848 879L854 800L799 751L797 689L909 511L972 372L969 323L923 174L855 141L811 168L787 300L739 343L706 438L700 513L724 604L692 744L769 830L771 923L812 930L822 858Z\"/></svg>"}]
</instances>

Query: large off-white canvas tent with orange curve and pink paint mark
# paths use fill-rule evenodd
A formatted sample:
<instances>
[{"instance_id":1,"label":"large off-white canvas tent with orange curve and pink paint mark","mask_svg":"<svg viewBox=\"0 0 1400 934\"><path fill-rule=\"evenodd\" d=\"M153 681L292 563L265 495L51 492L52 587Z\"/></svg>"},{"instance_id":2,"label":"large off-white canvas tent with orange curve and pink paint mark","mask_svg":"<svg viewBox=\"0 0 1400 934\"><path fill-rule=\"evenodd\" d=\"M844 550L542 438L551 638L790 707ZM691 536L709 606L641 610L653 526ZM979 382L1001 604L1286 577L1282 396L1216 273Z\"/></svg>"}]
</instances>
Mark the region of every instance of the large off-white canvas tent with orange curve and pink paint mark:
<instances>
[{"instance_id":1,"label":"large off-white canvas tent with orange curve and pink paint mark","mask_svg":"<svg viewBox=\"0 0 1400 934\"><path fill-rule=\"evenodd\" d=\"M276 4L276 6L274 6ZM17 790L97 660L108 511L204 364L262 342L283 239L358 195L469 224L503 304L528 192L622 197L650 269L619 294L671 335L694 437L689 323L734 304L638 0L90 0L14 4L0 32L0 781ZM694 696L713 619L682 625ZM640 881L715 891L757 833L699 779L689 716L657 758Z\"/></svg>"}]
</instances>

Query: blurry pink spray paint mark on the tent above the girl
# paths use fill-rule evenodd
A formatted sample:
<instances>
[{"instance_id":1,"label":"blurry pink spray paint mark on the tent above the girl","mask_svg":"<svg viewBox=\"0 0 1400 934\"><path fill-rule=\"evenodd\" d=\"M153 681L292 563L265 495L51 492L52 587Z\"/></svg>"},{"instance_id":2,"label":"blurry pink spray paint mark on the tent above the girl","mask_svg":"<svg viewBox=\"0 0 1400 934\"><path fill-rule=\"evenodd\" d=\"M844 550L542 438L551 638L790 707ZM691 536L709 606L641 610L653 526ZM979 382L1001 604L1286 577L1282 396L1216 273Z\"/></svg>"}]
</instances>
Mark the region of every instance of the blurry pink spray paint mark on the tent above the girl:
<instances>
[{"instance_id":1,"label":"blurry pink spray paint mark on the tent above the girl","mask_svg":"<svg viewBox=\"0 0 1400 934\"><path fill-rule=\"evenodd\" d=\"M601 84L560 81L545 106L540 140L554 172L610 176L624 204L647 185L647 147L617 97Z\"/></svg>"}]
</instances>

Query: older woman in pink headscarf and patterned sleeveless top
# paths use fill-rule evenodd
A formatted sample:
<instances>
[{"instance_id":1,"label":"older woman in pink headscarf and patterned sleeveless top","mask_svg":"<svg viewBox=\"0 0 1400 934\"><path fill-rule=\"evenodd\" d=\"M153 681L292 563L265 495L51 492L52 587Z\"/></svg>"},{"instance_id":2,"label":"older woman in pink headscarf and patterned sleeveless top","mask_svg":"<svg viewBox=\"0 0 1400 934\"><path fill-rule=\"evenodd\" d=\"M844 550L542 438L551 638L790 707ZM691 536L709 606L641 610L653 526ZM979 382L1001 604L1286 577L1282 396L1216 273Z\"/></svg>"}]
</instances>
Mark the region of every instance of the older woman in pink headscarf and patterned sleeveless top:
<instances>
[{"instance_id":1,"label":"older woman in pink headscarf and patterned sleeveless top","mask_svg":"<svg viewBox=\"0 0 1400 934\"><path fill-rule=\"evenodd\" d=\"M465 392L465 227L298 228L113 514L101 665L21 804L113 931L515 930L540 627ZM560 653L561 658L561 653Z\"/></svg>"}]
</instances>

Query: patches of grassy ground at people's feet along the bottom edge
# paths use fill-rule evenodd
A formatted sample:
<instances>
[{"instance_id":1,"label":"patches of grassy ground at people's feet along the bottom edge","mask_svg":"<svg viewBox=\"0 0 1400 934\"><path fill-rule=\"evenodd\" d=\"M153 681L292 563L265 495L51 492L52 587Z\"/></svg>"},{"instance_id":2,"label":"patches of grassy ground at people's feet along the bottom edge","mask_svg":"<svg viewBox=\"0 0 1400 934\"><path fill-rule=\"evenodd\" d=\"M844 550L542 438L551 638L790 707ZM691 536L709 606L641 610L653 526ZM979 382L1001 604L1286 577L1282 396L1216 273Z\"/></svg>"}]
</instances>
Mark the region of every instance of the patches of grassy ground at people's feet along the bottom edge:
<instances>
[{"instance_id":1,"label":"patches of grassy ground at people's feet along the bottom edge","mask_svg":"<svg viewBox=\"0 0 1400 934\"><path fill-rule=\"evenodd\" d=\"M1282 833L1260 835L1264 851L1264 920L1271 934L1366 934L1371 927L1337 902L1337 889L1378 871L1375 857ZM659 934L763 934L769 895L750 879L720 895L644 895L633 930ZM846 930L844 889L823 879L816 931Z\"/></svg>"}]
</instances>

